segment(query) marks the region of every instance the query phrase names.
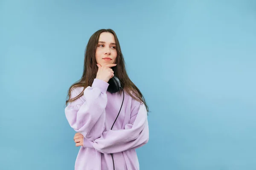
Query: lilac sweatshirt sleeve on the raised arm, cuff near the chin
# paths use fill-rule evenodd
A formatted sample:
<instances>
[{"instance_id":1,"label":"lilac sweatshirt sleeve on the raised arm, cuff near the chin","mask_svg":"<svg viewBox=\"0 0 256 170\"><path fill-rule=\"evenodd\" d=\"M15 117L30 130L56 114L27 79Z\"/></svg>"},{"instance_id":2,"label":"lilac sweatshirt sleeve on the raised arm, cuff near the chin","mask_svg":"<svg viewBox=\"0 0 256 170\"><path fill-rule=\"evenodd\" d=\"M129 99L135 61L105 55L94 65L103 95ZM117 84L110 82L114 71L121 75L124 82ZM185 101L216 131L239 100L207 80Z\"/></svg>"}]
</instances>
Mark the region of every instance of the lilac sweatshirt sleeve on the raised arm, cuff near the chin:
<instances>
[{"instance_id":1,"label":"lilac sweatshirt sleeve on the raised arm, cuff near the chin","mask_svg":"<svg viewBox=\"0 0 256 170\"><path fill-rule=\"evenodd\" d=\"M65 115L70 126L88 140L95 140L105 129L105 107L107 105L108 83L94 79L92 86L84 89L84 95L68 104ZM71 98L78 94L75 89Z\"/></svg>"}]
</instances>

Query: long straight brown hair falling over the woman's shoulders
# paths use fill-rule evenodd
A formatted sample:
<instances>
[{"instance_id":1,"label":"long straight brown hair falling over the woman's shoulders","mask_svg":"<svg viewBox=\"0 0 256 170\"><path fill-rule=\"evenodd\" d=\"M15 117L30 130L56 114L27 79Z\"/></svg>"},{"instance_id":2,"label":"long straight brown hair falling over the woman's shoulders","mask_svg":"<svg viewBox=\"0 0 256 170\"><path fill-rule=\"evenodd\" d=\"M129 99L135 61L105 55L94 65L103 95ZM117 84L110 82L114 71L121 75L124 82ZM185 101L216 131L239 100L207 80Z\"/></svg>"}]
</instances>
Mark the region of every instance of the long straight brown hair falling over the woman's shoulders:
<instances>
[{"instance_id":1,"label":"long straight brown hair falling over the woman's shoulders","mask_svg":"<svg viewBox=\"0 0 256 170\"><path fill-rule=\"evenodd\" d=\"M68 95L67 95L68 100L66 100L66 105L68 102L72 102L80 98L83 95L84 89L87 86L92 86L93 80L94 78L96 78L98 67L96 65L95 53L96 53L96 48L99 41L99 36L102 32L110 32L115 37L117 57L116 57L116 66L112 68L114 71L114 74L116 75L116 77L119 78L120 83L123 89L125 90L125 92L128 93L135 100L142 102L145 105L148 112L148 106L145 102L145 98L143 97L142 93L137 88L137 86L135 86L135 84L130 80L130 78L127 75L127 72L125 69L125 61L121 52L119 40L116 36L116 33L112 29L100 29L90 37L86 46L85 54L84 54L83 75L79 81L77 81L76 83L72 84L72 86L70 86L68 90ZM76 87L84 87L84 89L77 97L71 99L70 98L71 91Z\"/></svg>"}]
</instances>

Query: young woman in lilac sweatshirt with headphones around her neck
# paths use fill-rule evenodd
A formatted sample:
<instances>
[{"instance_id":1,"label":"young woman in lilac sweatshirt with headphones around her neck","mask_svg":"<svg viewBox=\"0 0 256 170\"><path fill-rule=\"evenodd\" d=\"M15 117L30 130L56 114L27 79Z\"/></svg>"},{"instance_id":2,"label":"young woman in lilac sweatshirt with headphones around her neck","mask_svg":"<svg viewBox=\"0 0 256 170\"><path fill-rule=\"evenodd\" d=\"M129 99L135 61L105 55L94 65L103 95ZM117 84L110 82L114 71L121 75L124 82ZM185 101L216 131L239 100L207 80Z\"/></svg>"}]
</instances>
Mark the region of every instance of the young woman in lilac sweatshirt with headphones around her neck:
<instances>
[{"instance_id":1,"label":"young woman in lilac sweatshirt with headphones around her neck","mask_svg":"<svg viewBox=\"0 0 256 170\"><path fill-rule=\"evenodd\" d=\"M113 76L119 92L108 87ZM139 170L136 148L148 142L148 107L129 79L118 38L101 29L89 39L81 79L68 91L65 115L81 146L75 170Z\"/></svg>"}]
</instances>

